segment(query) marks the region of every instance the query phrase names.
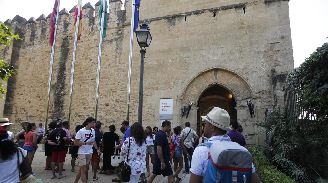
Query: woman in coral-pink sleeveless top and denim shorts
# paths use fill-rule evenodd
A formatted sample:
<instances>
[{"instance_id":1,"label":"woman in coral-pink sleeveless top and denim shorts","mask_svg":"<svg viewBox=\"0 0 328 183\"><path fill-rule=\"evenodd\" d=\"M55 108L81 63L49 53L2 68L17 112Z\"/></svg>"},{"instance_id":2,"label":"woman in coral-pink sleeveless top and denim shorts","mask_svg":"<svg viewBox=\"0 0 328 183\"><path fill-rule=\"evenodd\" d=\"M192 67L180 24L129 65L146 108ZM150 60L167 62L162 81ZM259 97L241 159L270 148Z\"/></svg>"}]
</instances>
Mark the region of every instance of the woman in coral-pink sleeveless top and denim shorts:
<instances>
[{"instance_id":1,"label":"woman in coral-pink sleeveless top and denim shorts","mask_svg":"<svg viewBox=\"0 0 328 183\"><path fill-rule=\"evenodd\" d=\"M29 123L27 125L26 133L25 133L25 144L23 146L23 149L27 151L27 156L30 159L30 162L32 164L34 154L36 149L38 148L38 144L36 142L36 133L33 132L33 130L36 129L35 123ZM35 176L36 173L32 172L32 175Z\"/></svg>"}]
</instances>

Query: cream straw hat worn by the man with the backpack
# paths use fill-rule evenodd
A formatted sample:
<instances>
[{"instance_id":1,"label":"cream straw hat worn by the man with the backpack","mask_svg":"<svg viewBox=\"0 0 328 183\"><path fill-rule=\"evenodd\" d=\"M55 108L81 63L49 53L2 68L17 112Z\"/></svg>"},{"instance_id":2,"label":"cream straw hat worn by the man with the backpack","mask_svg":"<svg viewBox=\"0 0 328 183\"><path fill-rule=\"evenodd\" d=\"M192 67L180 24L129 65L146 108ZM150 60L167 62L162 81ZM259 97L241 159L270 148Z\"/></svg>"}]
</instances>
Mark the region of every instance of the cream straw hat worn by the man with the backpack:
<instances>
[{"instance_id":1,"label":"cream straw hat worn by the man with the backpack","mask_svg":"<svg viewBox=\"0 0 328 183\"><path fill-rule=\"evenodd\" d=\"M214 107L211 112L206 116L201 116L205 121L211 123L212 125L222 129L231 131L230 126L230 115L229 113L221 108Z\"/></svg>"}]
</instances>

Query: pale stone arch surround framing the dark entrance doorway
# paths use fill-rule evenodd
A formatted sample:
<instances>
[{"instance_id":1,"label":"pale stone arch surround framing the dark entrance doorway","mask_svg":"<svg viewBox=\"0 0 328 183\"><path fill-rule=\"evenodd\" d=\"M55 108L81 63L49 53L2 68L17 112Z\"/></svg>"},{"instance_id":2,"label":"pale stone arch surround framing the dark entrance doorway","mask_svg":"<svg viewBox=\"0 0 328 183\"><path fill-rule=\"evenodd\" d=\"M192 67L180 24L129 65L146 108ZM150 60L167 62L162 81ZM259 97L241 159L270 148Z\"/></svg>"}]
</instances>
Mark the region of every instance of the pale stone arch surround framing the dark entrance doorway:
<instances>
[{"instance_id":1,"label":"pale stone arch surround framing the dark entrance doorway","mask_svg":"<svg viewBox=\"0 0 328 183\"><path fill-rule=\"evenodd\" d=\"M199 106L199 101L202 97L202 94L204 94L208 89L208 91L210 91L211 87L221 87L230 92L234 98L234 101L236 102L235 109L237 109L237 111L238 108L245 108L247 106L246 100L253 97L252 87L240 74L232 70L220 67L213 67L201 71L188 82L181 95L177 98L176 104L179 108L182 106L188 106L189 101L194 102L188 119L181 118L181 125L184 124L184 122L189 121L191 122L191 127L193 129L196 129L198 126L200 126L200 115L202 114L200 114L199 111L201 107ZM212 89L215 90L215 88ZM216 94L214 96L218 99L222 97ZM213 96L210 95L205 97ZM231 111L231 115L233 118L235 118L233 111ZM197 131L199 134L201 132L200 128L197 128Z\"/></svg>"}]
</instances>

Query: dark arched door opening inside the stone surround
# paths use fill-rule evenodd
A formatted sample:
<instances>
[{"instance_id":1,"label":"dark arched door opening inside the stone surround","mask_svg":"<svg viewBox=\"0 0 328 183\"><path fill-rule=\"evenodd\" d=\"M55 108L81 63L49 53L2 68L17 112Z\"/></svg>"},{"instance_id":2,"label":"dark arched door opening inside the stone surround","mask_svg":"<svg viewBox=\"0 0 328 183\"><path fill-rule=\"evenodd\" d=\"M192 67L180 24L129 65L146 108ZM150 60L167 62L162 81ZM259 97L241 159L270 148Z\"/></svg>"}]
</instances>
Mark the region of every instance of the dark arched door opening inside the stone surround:
<instances>
[{"instance_id":1,"label":"dark arched door opening inside the stone surround","mask_svg":"<svg viewBox=\"0 0 328 183\"><path fill-rule=\"evenodd\" d=\"M200 116L208 114L214 107L219 107L226 110L231 119L237 118L236 101L234 96L226 88L213 85L207 88L199 97L198 100L198 113L197 114L197 133L200 135L202 132L202 119Z\"/></svg>"}]
</instances>

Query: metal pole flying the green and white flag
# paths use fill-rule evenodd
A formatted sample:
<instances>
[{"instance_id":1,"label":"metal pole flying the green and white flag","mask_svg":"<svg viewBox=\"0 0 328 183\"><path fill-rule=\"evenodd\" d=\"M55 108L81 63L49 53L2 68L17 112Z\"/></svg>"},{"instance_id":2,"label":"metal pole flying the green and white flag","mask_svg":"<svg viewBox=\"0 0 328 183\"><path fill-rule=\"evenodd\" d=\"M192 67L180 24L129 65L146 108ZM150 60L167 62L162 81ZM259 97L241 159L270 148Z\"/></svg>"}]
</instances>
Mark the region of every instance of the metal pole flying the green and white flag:
<instances>
[{"instance_id":1,"label":"metal pole flying the green and white flag","mask_svg":"<svg viewBox=\"0 0 328 183\"><path fill-rule=\"evenodd\" d=\"M98 107L98 94L99 94L101 46L102 46L102 38L103 38L103 32L104 32L104 19L105 19L105 8L106 8L106 0L102 0L102 1L103 1L103 3L102 3L103 9L102 9L102 14L101 14L100 40L99 40L99 50L98 50L98 65L97 65L96 97L95 97L94 117L93 117L96 120L97 120L97 107Z\"/></svg>"}]
</instances>

